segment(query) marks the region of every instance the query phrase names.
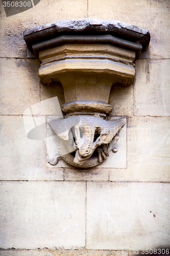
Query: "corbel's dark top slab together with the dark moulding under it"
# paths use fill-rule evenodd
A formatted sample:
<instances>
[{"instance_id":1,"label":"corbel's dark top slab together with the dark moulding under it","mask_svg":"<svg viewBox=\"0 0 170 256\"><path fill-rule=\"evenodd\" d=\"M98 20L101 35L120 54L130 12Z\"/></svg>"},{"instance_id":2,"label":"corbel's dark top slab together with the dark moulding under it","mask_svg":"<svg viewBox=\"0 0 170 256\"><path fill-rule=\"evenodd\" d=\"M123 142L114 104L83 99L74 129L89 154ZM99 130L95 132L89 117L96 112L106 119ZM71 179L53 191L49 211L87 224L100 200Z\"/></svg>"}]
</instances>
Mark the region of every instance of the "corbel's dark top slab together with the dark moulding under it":
<instances>
[{"instance_id":1,"label":"corbel's dark top slab together with the dark moulding under it","mask_svg":"<svg viewBox=\"0 0 170 256\"><path fill-rule=\"evenodd\" d=\"M91 31L96 32L97 35L96 33L92 35ZM62 32L62 34L60 32ZM71 32L71 34L67 32ZM85 32L85 34L78 35L76 32ZM116 45L134 51L136 58L138 58L141 50L147 49L150 42L150 33L148 30L113 19L58 20L51 24L27 29L23 33L23 36L29 50L34 52L36 57L39 55L40 59L41 51L65 43L104 43ZM43 65L45 65L45 62Z\"/></svg>"}]
</instances>

